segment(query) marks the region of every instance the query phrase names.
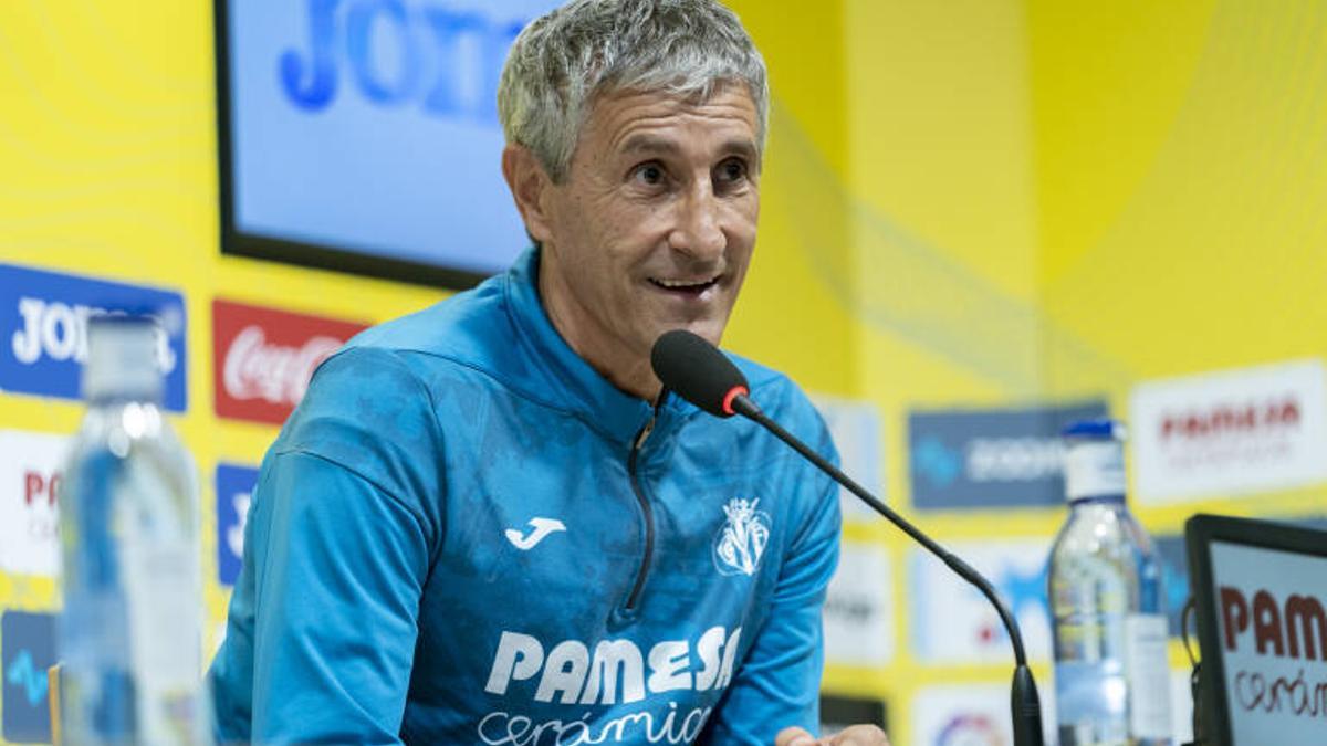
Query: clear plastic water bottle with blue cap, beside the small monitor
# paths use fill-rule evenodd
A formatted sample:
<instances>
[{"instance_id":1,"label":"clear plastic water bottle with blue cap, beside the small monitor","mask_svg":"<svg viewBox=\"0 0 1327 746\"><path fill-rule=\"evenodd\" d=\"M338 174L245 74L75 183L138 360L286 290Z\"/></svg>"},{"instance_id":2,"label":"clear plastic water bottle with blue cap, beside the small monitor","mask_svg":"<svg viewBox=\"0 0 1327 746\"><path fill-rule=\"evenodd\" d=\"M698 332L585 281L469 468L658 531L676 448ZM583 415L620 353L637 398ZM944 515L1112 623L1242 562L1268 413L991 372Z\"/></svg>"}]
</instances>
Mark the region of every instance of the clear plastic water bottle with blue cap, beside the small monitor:
<instances>
[{"instance_id":1,"label":"clear plastic water bottle with blue cap, beside the small monitor","mask_svg":"<svg viewBox=\"0 0 1327 746\"><path fill-rule=\"evenodd\" d=\"M1124 499L1124 433L1064 431L1070 516L1051 550L1060 746L1170 743L1161 565Z\"/></svg>"}]
</instances>

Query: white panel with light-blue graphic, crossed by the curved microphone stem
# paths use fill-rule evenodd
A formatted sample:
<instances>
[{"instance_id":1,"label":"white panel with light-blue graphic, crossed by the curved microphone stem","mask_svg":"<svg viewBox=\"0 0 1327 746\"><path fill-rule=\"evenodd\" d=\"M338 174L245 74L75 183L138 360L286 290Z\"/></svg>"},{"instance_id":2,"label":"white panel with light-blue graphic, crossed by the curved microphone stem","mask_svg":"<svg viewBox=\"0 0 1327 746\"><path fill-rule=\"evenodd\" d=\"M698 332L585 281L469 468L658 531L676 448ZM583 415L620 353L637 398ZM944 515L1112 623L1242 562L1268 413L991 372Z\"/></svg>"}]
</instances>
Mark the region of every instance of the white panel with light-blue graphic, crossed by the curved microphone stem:
<instances>
[{"instance_id":1,"label":"white panel with light-blue graphic, crossed by the curved microphone stem","mask_svg":"<svg viewBox=\"0 0 1327 746\"><path fill-rule=\"evenodd\" d=\"M1023 633L1030 660L1051 656L1046 563L1051 539L953 542L949 551L990 580ZM981 591L925 550L910 552L912 634L917 656L934 664L1013 661L999 613Z\"/></svg>"}]
</instances>

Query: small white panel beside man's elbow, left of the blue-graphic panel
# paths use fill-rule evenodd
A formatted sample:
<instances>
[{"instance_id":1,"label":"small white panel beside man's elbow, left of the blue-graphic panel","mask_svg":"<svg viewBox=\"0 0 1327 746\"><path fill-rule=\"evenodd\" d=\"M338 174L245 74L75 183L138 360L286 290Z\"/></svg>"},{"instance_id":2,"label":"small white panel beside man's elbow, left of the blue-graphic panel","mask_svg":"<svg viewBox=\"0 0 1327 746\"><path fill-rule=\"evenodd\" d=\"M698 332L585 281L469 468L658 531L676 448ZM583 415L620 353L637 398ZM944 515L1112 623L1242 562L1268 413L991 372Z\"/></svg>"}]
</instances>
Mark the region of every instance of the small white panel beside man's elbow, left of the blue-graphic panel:
<instances>
[{"instance_id":1,"label":"small white panel beside man's elbow, left of the blue-graphic panel","mask_svg":"<svg viewBox=\"0 0 1327 746\"><path fill-rule=\"evenodd\" d=\"M884 547L843 544L824 605L827 662L878 666L894 657L892 587Z\"/></svg>"}]
</instances>

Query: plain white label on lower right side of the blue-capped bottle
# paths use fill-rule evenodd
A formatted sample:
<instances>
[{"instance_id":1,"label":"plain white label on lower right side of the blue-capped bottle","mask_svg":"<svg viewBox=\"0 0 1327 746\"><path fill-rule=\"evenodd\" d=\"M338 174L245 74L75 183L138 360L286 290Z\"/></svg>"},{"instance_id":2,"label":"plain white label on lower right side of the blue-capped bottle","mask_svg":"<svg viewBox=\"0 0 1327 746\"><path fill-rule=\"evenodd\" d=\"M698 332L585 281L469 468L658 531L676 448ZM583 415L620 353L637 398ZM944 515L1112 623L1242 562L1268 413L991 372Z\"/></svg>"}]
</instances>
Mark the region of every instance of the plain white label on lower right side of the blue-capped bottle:
<instances>
[{"instance_id":1,"label":"plain white label on lower right side of the blue-capped bottle","mask_svg":"<svg viewBox=\"0 0 1327 746\"><path fill-rule=\"evenodd\" d=\"M1166 621L1132 613L1124 620L1125 672L1129 681L1129 731L1135 738L1170 737L1170 668Z\"/></svg>"}]
</instances>

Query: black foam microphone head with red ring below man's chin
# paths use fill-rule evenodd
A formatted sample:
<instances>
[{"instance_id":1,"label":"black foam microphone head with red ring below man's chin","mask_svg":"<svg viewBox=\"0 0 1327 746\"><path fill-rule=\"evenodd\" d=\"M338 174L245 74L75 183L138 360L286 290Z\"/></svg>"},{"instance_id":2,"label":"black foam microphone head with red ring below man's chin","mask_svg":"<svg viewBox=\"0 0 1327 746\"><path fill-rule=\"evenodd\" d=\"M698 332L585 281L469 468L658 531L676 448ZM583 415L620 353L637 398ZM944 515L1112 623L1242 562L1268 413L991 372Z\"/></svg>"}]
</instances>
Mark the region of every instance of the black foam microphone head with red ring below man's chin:
<instances>
[{"instance_id":1,"label":"black foam microphone head with red ring below man's chin","mask_svg":"<svg viewBox=\"0 0 1327 746\"><path fill-rule=\"evenodd\" d=\"M738 366L719 348L686 329L660 335L650 350L650 365L666 389L718 417L733 417L733 398L750 393Z\"/></svg>"}]
</instances>

